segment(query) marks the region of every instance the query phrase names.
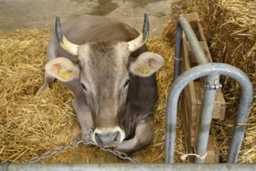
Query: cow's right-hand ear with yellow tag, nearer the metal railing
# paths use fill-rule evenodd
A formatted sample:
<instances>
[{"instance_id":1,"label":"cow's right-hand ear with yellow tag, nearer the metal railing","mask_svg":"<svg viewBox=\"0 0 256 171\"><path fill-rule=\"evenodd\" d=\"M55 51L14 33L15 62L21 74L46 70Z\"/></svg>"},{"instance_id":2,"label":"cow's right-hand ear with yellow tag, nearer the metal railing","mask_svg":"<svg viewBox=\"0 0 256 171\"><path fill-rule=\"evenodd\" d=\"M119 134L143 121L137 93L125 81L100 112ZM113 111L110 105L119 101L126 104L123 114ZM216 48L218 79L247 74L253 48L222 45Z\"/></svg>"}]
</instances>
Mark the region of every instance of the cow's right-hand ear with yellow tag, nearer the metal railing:
<instances>
[{"instance_id":1,"label":"cow's right-hand ear with yellow tag, nearer the metal railing","mask_svg":"<svg viewBox=\"0 0 256 171\"><path fill-rule=\"evenodd\" d=\"M148 77L159 70L163 64L164 60L159 54L145 52L140 54L135 61L132 61L129 70L134 75Z\"/></svg>"}]
</instances>

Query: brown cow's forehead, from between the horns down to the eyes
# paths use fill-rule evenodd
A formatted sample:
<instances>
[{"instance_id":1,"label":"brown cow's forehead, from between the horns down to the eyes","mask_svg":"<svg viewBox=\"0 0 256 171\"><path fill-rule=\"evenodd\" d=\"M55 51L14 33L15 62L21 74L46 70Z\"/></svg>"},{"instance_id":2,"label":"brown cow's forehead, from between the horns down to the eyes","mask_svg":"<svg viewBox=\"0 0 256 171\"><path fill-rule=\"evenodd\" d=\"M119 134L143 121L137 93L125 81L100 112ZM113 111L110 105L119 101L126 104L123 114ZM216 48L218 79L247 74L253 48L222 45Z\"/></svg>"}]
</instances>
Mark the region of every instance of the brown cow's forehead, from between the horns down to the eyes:
<instances>
[{"instance_id":1,"label":"brown cow's forehead, from between the horns down to the eyes","mask_svg":"<svg viewBox=\"0 0 256 171\"><path fill-rule=\"evenodd\" d=\"M121 79L128 76L128 44L119 43L91 43L79 47L79 61L81 72L91 82ZM86 81L85 80L85 81Z\"/></svg>"}]
</instances>

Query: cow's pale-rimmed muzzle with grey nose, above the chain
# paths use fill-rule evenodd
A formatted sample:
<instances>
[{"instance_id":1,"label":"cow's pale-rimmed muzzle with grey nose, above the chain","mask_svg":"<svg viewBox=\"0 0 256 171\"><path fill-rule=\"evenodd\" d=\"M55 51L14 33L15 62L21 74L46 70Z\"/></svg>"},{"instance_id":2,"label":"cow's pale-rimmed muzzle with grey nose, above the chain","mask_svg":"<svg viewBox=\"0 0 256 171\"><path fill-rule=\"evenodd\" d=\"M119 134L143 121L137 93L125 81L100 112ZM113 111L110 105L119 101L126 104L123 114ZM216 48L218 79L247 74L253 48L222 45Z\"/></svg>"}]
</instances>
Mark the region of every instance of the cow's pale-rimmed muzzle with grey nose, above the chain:
<instances>
[{"instance_id":1,"label":"cow's pale-rimmed muzzle with grey nose, above the chain","mask_svg":"<svg viewBox=\"0 0 256 171\"><path fill-rule=\"evenodd\" d=\"M100 147L113 147L120 144L125 138L121 127L96 128L92 134L93 142Z\"/></svg>"}]
</instances>

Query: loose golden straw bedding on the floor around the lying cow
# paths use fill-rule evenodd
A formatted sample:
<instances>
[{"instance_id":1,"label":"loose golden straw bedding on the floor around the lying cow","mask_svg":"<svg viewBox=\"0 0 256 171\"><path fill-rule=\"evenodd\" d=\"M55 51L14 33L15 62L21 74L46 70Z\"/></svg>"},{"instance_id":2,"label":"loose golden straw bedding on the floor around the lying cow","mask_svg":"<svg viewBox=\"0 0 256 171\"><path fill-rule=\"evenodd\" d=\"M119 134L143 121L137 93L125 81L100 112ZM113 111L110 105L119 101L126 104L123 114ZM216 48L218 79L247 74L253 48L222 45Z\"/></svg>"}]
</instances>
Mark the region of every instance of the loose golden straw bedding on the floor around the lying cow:
<instances>
[{"instance_id":1,"label":"loose golden straw bedding on the floor around the lying cow","mask_svg":"<svg viewBox=\"0 0 256 171\"><path fill-rule=\"evenodd\" d=\"M72 109L72 92L54 82L40 96L43 84L47 30L13 31L0 35L0 162L26 162L44 152L79 140L80 128ZM160 99L156 105L155 139L136 152L144 162L163 162L167 94L174 71L174 48L169 40L149 40L149 50L161 54L166 65L157 74ZM181 126L181 121L178 124ZM182 127L177 128L178 152L184 150ZM181 161L176 156L177 161ZM97 147L79 147L40 162L127 162Z\"/></svg>"}]
</instances>

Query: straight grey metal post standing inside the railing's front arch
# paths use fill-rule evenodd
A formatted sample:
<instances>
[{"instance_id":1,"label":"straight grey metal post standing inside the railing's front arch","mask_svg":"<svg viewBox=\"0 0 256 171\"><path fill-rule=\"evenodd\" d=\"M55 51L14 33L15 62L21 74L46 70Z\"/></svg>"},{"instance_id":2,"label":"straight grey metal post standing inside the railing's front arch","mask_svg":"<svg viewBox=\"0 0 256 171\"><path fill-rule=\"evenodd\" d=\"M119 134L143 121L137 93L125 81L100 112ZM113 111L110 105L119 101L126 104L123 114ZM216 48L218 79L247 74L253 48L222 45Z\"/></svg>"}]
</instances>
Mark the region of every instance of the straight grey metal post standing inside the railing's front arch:
<instances>
[{"instance_id":1,"label":"straight grey metal post standing inside the railing's front arch","mask_svg":"<svg viewBox=\"0 0 256 171\"><path fill-rule=\"evenodd\" d=\"M216 89L209 89L205 87L202 115L199 126L199 134L197 138L196 154L204 156L207 151L207 145L209 140L209 132L212 123L212 111L214 107L214 101L216 99ZM196 163L204 163L205 159L195 157Z\"/></svg>"}]
</instances>

